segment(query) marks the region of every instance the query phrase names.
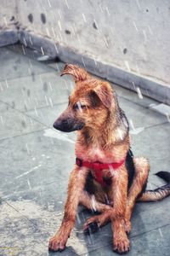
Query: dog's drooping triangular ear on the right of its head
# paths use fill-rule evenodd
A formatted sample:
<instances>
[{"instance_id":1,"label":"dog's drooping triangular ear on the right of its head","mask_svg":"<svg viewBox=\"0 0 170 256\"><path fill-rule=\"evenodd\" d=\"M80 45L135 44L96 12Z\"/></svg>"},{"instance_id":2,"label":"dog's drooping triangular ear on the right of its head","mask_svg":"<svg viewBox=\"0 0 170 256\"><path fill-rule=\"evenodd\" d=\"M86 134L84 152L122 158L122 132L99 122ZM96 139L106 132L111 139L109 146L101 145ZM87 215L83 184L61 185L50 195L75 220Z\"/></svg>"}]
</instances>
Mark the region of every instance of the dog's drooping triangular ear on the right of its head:
<instances>
[{"instance_id":1,"label":"dog's drooping triangular ear on the right of its head","mask_svg":"<svg viewBox=\"0 0 170 256\"><path fill-rule=\"evenodd\" d=\"M103 82L94 89L94 92L106 108L111 108L111 103L113 101L113 91L110 84Z\"/></svg>"}]
</instances>

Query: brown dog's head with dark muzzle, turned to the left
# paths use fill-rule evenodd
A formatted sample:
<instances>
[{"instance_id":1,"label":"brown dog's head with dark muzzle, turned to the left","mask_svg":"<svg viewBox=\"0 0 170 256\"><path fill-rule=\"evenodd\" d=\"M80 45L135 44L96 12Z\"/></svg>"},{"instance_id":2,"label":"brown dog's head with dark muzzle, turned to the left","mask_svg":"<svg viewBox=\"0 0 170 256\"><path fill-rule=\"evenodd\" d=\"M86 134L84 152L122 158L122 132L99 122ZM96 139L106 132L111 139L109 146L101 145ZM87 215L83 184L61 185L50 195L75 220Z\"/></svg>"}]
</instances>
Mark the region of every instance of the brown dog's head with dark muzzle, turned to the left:
<instances>
[{"instance_id":1,"label":"brown dog's head with dark muzzle, turned to the left","mask_svg":"<svg viewBox=\"0 0 170 256\"><path fill-rule=\"evenodd\" d=\"M69 96L68 108L54 122L54 128L65 132L99 128L115 106L111 85L71 64L65 65L61 75L65 74L73 76L76 86Z\"/></svg>"}]
</instances>

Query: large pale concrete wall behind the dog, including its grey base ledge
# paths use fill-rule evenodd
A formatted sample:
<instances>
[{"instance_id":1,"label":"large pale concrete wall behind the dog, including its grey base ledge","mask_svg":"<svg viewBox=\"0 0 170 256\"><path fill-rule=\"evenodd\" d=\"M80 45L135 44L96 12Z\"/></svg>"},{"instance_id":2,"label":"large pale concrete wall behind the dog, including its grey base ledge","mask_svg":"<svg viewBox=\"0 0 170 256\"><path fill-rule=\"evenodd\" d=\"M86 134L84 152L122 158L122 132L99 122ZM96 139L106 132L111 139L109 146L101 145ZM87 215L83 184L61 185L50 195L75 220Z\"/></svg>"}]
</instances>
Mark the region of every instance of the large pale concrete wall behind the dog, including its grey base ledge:
<instances>
[{"instance_id":1,"label":"large pale concrete wall behind the dog, including its grey base ledge","mask_svg":"<svg viewBox=\"0 0 170 256\"><path fill-rule=\"evenodd\" d=\"M16 1L22 44L170 104L168 0Z\"/></svg>"}]
</instances>

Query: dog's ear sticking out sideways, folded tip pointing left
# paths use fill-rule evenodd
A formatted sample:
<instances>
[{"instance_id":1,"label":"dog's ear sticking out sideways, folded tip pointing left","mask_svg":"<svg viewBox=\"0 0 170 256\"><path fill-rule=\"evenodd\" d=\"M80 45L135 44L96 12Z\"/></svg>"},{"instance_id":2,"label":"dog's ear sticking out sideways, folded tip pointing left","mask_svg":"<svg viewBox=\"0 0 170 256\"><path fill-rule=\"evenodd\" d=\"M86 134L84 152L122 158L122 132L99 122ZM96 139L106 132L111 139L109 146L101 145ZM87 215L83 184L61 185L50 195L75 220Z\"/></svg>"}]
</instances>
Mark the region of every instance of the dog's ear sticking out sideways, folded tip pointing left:
<instances>
[{"instance_id":1,"label":"dog's ear sticking out sideways, folded tip pointing left","mask_svg":"<svg viewBox=\"0 0 170 256\"><path fill-rule=\"evenodd\" d=\"M72 65L72 64L65 65L65 68L61 73L61 76L65 74L71 74L74 77L75 82L84 81L90 78L90 75L88 74L88 72L86 72L83 68L77 67L76 65Z\"/></svg>"}]
</instances>

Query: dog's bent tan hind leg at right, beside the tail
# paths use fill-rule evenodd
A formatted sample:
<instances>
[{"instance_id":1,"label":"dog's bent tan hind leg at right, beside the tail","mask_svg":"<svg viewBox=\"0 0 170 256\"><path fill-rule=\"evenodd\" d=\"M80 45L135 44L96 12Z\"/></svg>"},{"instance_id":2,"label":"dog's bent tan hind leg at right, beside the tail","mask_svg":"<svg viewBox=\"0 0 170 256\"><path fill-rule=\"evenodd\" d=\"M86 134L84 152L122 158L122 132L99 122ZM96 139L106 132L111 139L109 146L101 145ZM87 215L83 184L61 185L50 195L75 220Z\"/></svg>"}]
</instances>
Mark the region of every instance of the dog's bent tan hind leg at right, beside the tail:
<instances>
[{"instance_id":1,"label":"dog's bent tan hind leg at right, beside the tail","mask_svg":"<svg viewBox=\"0 0 170 256\"><path fill-rule=\"evenodd\" d=\"M133 163L135 166L135 176L127 195L127 209L125 218L125 227L127 232L130 232L131 230L130 219L135 201L137 200L140 193L142 193L144 185L147 183L147 178L150 171L149 161L144 157L133 158Z\"/></svg>"}]
</instances>

